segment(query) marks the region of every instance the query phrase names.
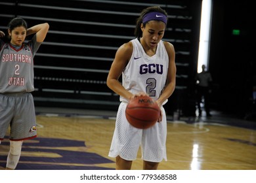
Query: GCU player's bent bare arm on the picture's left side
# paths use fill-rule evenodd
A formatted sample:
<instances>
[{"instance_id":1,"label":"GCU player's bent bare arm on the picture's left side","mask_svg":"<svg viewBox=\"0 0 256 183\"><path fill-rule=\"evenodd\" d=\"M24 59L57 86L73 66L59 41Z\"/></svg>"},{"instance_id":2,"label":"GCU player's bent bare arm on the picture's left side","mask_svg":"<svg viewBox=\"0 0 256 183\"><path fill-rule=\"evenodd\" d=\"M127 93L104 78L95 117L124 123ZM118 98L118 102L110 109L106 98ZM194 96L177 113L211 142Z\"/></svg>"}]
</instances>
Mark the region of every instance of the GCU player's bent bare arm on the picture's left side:
<instances>
[{"instance_id":1,"label":"GCU player's bent bare arm on the picture's left side","mask_svg":"<svg viewBox=\"0 0 256 183\"><path fill-rule=\"evenodd\" d=\"M126 99L131 99L131 97L133 97L133 93L125 90L118 79L121 76L123 69L125 69L129 59L131 58L132 53L133 44L131 42L127 42L118 48L114 61L110 67L108 78L106 80L108 88L113 90L118 95L125 97Z\"/></svg>"}]
</instances>

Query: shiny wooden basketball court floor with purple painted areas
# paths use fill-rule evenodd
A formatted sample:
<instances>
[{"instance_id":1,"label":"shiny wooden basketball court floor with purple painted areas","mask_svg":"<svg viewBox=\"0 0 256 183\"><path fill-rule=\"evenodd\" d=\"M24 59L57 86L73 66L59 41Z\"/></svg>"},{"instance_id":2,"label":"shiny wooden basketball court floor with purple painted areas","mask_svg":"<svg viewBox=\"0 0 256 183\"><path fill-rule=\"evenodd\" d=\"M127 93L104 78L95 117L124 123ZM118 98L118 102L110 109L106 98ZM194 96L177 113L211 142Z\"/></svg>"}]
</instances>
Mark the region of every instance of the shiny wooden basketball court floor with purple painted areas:
<instances>
[{"instance_id":1,"label":"shiny wooden basketball court floor with purple painted areas","mask_svg":"<svg viewBox=\"0 0 256 183\"><path fill-rule=\"evenodd\" d=\"M256 130L226 120L169 120L168 161L159 169L256 170ZM108 157L114 126L113 116L37 114L38 137L24 141L17 169L115 169L115 159ZM0 145L0 169L8 151L6 139ZM132 169L142 169L140 150Z\"/></svg>"}]
</instances>

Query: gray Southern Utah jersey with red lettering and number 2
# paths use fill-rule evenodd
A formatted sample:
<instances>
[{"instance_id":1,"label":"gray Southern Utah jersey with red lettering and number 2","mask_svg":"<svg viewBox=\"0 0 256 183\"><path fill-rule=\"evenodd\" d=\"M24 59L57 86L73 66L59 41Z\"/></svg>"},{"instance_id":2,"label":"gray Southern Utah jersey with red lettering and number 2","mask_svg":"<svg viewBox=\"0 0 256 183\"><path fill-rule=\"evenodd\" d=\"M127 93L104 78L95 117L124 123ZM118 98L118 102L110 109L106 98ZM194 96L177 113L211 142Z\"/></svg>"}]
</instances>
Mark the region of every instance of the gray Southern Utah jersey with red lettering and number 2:
<instances>
[{"instance_id":1,"label":"gray Southern Utah jersey with red lettering and number 2","mask_svg":"<svg viewBox=\"0 0 256 183\"><path fill-rule=\"evenodd\" d=\"M33 57L41 42L36 35L18 49L0 40L0 93L32 92Z\"/></svg>"}]
</instances>

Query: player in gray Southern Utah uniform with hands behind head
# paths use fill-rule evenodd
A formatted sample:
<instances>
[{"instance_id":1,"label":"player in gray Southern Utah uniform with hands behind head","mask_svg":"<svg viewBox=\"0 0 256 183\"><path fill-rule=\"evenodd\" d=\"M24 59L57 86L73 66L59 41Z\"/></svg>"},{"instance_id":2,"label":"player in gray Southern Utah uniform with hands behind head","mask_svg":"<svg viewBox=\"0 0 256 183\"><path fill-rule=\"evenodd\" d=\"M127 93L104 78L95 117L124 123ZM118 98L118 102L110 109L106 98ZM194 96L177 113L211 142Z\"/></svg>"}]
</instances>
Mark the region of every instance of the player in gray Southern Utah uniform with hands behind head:
<instances>
[{"instance_id":1,"label":"player in gray Southern Utah uniform with hands behind head","mask_svg":"<svg viewBox=\"0 0 256 183\"><path fill-rule=\"evenodd\" d=\"M6 169L15 169L20 159L22 142L37 136L33 105L33 57L44 41L49 24L28 29L26 21L14 18L8 25L10 42L0 40L0 143L8 127L10 151ZM24 43L26 36L32 40ZM5 33L0 31L0 37Z\"/></svg>"}]
</instances>

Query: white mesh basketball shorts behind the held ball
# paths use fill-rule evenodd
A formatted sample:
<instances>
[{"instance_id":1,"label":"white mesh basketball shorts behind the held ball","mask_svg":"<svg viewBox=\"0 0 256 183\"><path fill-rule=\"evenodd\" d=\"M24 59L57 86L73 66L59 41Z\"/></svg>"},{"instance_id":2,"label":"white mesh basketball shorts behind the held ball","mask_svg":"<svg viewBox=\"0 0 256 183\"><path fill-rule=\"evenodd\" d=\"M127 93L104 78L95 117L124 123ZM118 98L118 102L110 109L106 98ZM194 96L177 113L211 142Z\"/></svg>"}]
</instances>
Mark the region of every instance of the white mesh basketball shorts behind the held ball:
<instances>
[{"instance_id":1,"label":"white mesh basketball shorts behind the held ball","mask_svg":"<svg viewBox=\"0 0 256 183\"><path fill-rule=\"evenodd\" d=\"M125 117L127 103L121 103L117 111L116 127L108 156L120 156L128 161L137 158L139 147L142 159L150 162L160 162L166 157L167 120L163 107L161 107L162 121L148 129L133 127Z\"/></svg>"}]
</instances>

